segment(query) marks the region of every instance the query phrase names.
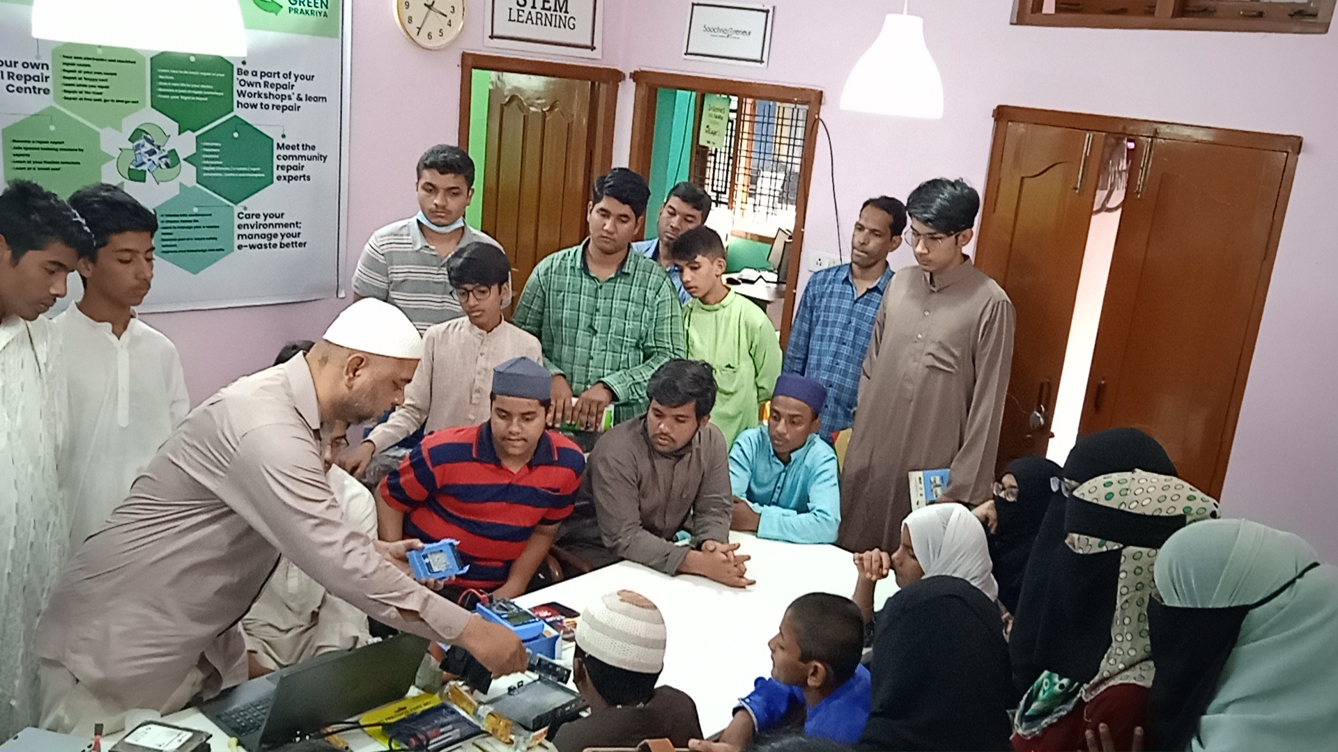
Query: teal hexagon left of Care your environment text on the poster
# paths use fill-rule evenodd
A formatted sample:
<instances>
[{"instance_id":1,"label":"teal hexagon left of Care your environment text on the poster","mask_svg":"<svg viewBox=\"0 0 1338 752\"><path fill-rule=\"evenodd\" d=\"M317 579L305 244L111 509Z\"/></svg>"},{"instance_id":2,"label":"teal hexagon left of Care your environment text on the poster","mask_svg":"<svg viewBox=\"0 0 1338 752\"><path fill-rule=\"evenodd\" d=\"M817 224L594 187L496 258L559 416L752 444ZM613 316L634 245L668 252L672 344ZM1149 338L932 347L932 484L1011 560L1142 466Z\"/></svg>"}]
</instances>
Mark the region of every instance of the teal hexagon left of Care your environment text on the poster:
<instances>
[{"instance_id":1,"label":"teal hexagon left of Care your environment text on the poster","mask_svg":"<svg viewBox=\"0 0 1338 752\"><path fill-rule=\"evenodd\" d=\"M158 258L199 274L235 248L233 207L209 191L181 186L158 205Z\"/></svg>"}]
</instances>

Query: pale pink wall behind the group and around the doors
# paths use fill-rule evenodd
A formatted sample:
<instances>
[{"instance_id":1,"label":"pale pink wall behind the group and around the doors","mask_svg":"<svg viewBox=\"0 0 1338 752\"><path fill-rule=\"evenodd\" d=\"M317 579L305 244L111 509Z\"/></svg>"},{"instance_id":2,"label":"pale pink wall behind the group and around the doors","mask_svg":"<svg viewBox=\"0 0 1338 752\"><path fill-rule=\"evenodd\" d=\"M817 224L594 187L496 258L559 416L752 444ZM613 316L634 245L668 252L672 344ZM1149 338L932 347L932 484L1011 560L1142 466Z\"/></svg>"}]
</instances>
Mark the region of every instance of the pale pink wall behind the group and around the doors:
<instances>
[{"instance_id":1,"label":"pale pink wall behind the group and around the doors","mask_svg":"<svg viewBox=\"0 0 1338 752\"><path fill-rule=\"evenodd\" d=\"M904 195L933 175L983 185L997 104L1127 115L1305 136L1223 491L1228 515L1303 533L1338 561L1338 257L1327 221L1338 174L1338 31L1323 36L1044 29L1012 27L1012 0L917 0L943 76L942 120L843 112L846 74L900 3L771 0L767 68L680 55L686 0L609 0L603 64L769 80L826 91L835 142L840 249L860 201ZM482 47L482 3L448 51L413 48L388 3L353 4L351 264L373 229L412 206L412 165L458 127L459 52ZM491 51L491 50L490 50ZM579 60L575 60L579 62ZM895 75L890 72L890 75ZM633 87L619 95L615 163L626 163ZM383 167L388 165L389 167ZM835 256L826 140L819 142L807 218L807 260ZM899 265L910 257L899 252ZM182 352L198 401L269 363L288 339L318 336L341 301L158 314Z\"/></svg>"}]
</instances>

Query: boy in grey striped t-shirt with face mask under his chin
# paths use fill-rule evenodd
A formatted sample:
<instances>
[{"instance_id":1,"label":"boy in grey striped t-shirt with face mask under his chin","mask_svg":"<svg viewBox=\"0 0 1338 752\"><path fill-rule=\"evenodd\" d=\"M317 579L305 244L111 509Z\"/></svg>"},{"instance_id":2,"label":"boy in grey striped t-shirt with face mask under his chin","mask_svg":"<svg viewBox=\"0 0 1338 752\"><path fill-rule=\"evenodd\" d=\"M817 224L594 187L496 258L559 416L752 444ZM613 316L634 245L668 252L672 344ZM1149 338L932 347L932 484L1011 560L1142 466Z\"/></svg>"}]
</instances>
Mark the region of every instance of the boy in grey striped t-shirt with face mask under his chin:
<instances>
[{"instance_id":1,"label":"boy in grey striped t-shirt with face mask under his chin","mask_svg":"<svg viewBox=\"0 0 1338 752\"><path fill-rule=\"evenodd\" d=\"M474 198L474 161L458 146L439 143L417 163L419 213L372 233L353 272L357 298L384 300L409 317L419 333L464 316L446 274L446 260L471 242L502 248L464 223Z\"/></svg>"}]
</instances>

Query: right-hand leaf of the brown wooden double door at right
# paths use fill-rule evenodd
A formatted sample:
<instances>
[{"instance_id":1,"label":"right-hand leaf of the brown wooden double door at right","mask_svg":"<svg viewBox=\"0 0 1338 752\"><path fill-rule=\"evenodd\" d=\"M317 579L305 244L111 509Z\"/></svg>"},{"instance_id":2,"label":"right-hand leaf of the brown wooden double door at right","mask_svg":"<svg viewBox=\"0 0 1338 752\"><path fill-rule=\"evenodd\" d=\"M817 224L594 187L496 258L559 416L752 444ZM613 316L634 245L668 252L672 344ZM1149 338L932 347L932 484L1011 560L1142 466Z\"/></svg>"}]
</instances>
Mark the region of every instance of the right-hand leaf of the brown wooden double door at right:
<instances>
[{"instance_id":1,"label":"right-hand leaf of the brown wooden double door at right","mask_svg":"<svg viewBox=\"0 0 1338 752\"><path fill-rule=\"evenodd\" d=\"M1288 158L1294 165L1280 150L1139 139L1080 434L1141 428L1181 478L1220 491Z\"/></svg>"}]
</instances>

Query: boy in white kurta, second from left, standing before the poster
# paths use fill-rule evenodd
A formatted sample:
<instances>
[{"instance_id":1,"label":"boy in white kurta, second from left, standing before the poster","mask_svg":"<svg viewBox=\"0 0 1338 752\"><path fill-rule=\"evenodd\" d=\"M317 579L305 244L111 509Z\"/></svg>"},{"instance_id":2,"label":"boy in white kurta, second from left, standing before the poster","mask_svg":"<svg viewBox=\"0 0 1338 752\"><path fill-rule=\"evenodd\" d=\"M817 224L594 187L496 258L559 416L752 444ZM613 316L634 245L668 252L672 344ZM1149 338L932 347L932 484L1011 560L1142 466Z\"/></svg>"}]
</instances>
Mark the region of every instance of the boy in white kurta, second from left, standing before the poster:
<instances>
[{"instance_id":1,"label":"boy in white kurta, second from left, standing before the poster","mask_svg":"<svg viewBox=\"0 0 1338 752\"><path fill-rule=\"evenodd\" d=\"M70 206L94 236L92 258L79 261L83 297L55 321L70 379L62 482L78 549L186 417L190 397L175 345L134 310L154 280L158 218L107 183L76 190Z\"/></svg>"}]
</instances>

